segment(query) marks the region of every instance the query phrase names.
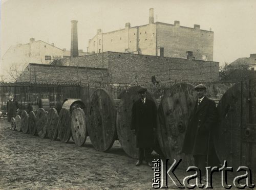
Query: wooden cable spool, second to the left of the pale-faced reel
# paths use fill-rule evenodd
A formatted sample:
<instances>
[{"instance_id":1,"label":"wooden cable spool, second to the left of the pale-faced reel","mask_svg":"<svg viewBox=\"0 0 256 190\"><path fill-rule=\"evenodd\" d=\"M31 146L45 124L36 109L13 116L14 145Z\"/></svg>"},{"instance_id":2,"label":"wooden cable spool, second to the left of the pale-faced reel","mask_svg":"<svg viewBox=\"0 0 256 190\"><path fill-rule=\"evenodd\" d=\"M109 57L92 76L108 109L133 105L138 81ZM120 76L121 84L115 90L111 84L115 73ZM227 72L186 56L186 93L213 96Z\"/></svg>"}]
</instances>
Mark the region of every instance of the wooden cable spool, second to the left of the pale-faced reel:
<instances>
[{"instance_id":1,"label":"wooden cable spool, second to the left of the pale-faced reel","mask_svg":"<svg viewBox=\"0 0 256 190\"><path fill-rule=\"evenodd\" d=\"M56 140L58 137L58 113L55 108L51 108L47 115L47 135L51 140Z\"/></svg>"}]
</instances>

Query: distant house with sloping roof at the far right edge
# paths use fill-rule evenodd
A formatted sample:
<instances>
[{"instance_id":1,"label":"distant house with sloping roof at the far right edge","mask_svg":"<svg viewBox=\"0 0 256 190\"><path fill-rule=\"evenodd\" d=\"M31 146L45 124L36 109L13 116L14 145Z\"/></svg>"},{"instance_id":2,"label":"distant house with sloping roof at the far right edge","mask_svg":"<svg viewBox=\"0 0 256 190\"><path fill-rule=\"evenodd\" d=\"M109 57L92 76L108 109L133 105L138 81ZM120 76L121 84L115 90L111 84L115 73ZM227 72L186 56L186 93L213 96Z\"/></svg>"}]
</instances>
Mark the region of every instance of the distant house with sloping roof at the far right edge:
<instances>
[{"instance_id":1,"label":"distant house with sloping roof at the far right edge","mask_svg":"<svg viewBox=\"0 0 256 190\"><path fill-rule=\"evenodd\" d=\"M256 54L250 54L250 57L241 57L228 65L228 68L241 68L256 70Z\"/></svg>"}]
</instances>

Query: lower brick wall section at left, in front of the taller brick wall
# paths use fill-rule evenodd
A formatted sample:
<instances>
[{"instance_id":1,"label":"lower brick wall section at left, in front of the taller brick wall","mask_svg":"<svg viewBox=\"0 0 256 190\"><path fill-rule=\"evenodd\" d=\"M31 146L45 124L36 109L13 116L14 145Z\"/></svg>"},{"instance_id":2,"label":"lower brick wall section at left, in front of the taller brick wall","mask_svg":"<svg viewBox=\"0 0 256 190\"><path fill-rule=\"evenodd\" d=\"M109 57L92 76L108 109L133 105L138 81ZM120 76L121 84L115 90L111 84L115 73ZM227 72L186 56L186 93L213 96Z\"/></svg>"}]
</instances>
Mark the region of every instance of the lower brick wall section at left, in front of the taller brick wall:
<instances>
[{"instance_id":1,"label":"lower brick wall section at left, in front of the taller brick wall","mask_svg":"<svg viewBox=\"0 0 256 190\"><path fill-rule=\"evenodd\" d=\"M18 82L30 82L36 84L81 84L97 86L108 81L108 69L76 67L76 66L53 66L30 63L29 72L26 71Z\"/></svg>"}]
</instances>

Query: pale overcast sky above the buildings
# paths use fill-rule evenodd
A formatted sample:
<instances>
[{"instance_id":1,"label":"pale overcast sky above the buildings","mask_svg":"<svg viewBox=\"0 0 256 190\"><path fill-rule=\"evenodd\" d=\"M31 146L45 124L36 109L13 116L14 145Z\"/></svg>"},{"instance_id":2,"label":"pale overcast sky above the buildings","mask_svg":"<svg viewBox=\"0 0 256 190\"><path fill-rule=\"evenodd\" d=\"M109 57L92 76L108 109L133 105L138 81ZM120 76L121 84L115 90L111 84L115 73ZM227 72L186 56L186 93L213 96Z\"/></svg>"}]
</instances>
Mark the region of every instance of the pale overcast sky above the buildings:
<instances>
[{"instance_id":1,"label":"pale overcast sky above the buildings","mask_svg":"<svg viewBox=\"0 0 256 190\"><path fill-rule=\"evenodd\" d=\"M54 42L70 50L71 20L78 20L78 49L86 51L97 29L109 32L148 23L148 9L155 21L181 26L200 25L214 31L214 61L232 62L256 53L255 0L4 0L1 1L1 56L11 45L29 38Z\"/></svg>"}]
</instances>

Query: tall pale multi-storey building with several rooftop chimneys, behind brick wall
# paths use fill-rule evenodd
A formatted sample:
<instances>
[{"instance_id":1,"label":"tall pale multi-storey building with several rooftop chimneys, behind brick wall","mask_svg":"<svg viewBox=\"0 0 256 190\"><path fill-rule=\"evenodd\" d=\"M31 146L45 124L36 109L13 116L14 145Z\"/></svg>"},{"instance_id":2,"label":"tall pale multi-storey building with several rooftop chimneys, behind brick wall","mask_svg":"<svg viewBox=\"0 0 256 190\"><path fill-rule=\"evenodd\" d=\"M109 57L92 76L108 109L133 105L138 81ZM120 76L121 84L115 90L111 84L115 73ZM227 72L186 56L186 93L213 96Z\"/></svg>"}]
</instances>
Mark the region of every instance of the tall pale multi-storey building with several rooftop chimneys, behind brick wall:
<instances>
[{"instance_id":1,"label":"tall pale multi-storey building with several rooftop chimneys, behind brick wall","mask_svg":"<svg viewBox=\"0 0 256 190\"><path fill-rule=\"evenodd\" d=\"M150 9L147 25L132 27L125 23L125 28L112 32L97 34L89 40L88 51L126 52L153 56L186 58L186 52L194 52L197 60L213 60L214 32L201 30L200 25L194 28L154 22L154 10Z\"/></svg>"}]
</instances>

